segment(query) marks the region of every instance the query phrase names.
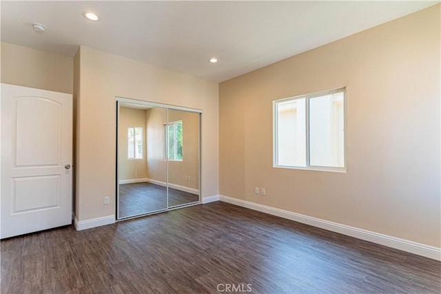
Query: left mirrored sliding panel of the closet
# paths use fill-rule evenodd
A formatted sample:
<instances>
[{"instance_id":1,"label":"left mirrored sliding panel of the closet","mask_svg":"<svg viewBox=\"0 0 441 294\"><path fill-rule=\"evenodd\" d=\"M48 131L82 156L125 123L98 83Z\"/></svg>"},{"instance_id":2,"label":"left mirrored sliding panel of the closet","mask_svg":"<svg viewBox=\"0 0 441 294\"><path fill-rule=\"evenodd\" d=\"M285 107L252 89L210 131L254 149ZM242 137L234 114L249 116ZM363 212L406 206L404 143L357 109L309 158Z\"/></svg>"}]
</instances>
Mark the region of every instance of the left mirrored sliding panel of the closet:
<instances>
[{"instance_id":1,"label":"left mirrored sliding panel of the closet","mask_svg":"<svg viewBox=\"0 0 441 294\"><path fill-rule=\"evenodd\" d=\"M165 123L166 108L119 108L119 218L167 209Z\"/></svg>"}]
</instances>

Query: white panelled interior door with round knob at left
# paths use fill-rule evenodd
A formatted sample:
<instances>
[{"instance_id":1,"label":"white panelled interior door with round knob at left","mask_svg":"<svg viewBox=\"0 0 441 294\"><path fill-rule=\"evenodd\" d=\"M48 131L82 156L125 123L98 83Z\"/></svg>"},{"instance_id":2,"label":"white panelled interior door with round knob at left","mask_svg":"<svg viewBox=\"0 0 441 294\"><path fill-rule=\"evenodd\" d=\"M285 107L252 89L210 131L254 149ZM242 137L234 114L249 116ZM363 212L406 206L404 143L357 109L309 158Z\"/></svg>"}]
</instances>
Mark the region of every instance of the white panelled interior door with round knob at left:
<instances>
[{"instance_id":1,"label":"white panelled interior door with round knob at left","mask_svg":"<svg viewBox=\"0 0 441 294\"><path fill-rule=\"evenodd\" d=\"M1 238L72 222L72 95L1 84Z\"/></svg>"}]
</instances>

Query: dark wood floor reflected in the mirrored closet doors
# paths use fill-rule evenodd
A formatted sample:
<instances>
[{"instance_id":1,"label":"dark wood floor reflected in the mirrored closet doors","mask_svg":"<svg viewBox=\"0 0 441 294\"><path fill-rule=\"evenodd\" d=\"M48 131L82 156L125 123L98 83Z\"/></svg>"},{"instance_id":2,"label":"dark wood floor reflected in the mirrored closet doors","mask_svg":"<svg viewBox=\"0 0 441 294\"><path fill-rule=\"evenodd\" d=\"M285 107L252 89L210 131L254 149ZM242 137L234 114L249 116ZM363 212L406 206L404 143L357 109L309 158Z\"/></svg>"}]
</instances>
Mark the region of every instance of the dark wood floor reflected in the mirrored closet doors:
<instances>
[{"instance_id":1,"label":"dark wood floor reflected in the mirrored closet doors","mask_svg":"<svg viewBox=\"0 0 441 294\"><path fill-rule=\"evenodd\" d=\"M196 194L169 188L169 207L197 202ZM119 185L119 218L167 209L167 188L150 182Z\"/></svg>"}]
</instances>

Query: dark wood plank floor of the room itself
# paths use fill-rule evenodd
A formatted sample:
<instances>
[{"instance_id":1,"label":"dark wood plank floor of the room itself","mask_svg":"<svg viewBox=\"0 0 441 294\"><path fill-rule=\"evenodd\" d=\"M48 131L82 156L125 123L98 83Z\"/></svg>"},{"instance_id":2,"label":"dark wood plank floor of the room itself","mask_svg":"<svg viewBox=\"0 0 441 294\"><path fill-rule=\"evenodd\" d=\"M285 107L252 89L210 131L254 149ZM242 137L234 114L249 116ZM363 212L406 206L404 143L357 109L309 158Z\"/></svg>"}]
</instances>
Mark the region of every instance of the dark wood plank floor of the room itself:
<instances>
[{"instance_id":1,"label":"dark wood plank floor of the room itself","mask_svg":"<svg viewBox=\"0 0 441 294\"><path fill-rule=\"evenodd\" d=\"M226 293L226 284L440 293L440 271L435 260L223 202L1 242L1 293Z\"/></svg>"}]
</instances>

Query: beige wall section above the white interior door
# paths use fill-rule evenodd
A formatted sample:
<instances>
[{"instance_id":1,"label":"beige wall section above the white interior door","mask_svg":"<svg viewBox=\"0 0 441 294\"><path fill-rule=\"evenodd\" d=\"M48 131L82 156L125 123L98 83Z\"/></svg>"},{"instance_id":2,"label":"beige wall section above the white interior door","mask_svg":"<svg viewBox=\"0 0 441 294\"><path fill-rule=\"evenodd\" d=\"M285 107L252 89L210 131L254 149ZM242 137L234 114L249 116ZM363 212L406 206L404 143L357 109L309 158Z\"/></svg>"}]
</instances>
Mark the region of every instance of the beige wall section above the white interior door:
<instances>
[{"instance_id":1,"label":"beige wall section above the white interior door","mask_svg":"<svg viewBox=\"0 0 441 294\"><path fill-rule=\"evenodd\" d=\"M72 94L74 60L1 42L1 83Z\"/></svg>"}]
</instances>

